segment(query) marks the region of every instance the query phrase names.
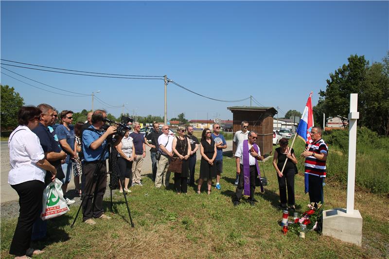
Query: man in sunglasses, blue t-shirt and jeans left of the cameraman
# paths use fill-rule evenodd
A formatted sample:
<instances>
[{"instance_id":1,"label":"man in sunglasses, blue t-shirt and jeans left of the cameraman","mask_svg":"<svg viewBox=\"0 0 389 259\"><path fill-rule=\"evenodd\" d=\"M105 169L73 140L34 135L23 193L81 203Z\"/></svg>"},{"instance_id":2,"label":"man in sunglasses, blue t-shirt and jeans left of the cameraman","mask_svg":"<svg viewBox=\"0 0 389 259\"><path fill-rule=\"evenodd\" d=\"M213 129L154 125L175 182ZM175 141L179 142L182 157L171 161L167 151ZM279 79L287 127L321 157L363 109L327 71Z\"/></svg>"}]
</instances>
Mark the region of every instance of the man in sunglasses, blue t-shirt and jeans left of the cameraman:
<instances>
[{"instance_id":1,"label":"man in sunglasses, blue t-shirt and jeans left of the cameraman","mask_svg":"<svg viewBox=\"0 0 389 259\"><path fill-rule=\"evenodd\" d=\"M62 170L65 173L65 178L62 180L62 191L64 193L66 203L69 205L75 203L75 201L66 197L66 190L68 189L68 184L71 180L71 173L73 169L72 159L78 157L74 130L69 127L69 125L73 122L73 112L70 110L63 110L61 111L59 117L61 125L55 129L55 134L58 137L59 144L61 145L63 151L68 154L66 156L65 163L62 164Z\"/></svg>"}]
</instances>

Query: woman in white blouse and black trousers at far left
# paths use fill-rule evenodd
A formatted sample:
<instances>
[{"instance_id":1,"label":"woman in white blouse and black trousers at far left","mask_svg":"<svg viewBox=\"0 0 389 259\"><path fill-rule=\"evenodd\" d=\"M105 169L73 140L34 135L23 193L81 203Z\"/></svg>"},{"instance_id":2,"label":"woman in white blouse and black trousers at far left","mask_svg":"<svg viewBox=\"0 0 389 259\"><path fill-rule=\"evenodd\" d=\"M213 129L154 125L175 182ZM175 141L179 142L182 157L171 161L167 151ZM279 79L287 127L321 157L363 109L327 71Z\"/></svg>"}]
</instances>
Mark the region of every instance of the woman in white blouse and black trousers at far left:
<instances>
[{"instance_id":1,"label":"woman in white blouse and black trousers at far left","mask_svg":"<svg viewBox=\"0 0 389 259\"><path fill-rule=\"evenodd\" d=\"M55 178L55 168L45 159L39 138L31 130L39 124L41 111L24 106L18 111L19 126L8 140L11 171L8 183L19 195L19 218L9 253L27 258L42 251L30 248L33 224L42 209L46 170Z\"/></svg>"}]
</instances>

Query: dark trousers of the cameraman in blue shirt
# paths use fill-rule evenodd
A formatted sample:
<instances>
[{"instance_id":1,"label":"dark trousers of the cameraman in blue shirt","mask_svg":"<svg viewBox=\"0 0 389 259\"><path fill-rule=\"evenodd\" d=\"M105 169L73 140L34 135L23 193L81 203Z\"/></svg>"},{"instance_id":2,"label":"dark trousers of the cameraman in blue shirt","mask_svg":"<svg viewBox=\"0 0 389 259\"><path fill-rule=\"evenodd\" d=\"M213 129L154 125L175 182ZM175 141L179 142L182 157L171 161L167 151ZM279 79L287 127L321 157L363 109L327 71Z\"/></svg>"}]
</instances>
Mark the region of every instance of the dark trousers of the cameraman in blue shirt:
<instances>
[{"instance_id":1,"label":"dark trousers of the cameraman in blue shirt","mask_svg":"<svg viewBox=\"0 0 389 259\"><path fill-rule=\"evenodd\" d=\"M93 177L96 164L86 164L85 174L85 196L83 201L82 213L83 221L90 218L98 218L103 213L103 196L106 193L106 162L97 170L97 175Z\"/></svg>"}]
</instances>

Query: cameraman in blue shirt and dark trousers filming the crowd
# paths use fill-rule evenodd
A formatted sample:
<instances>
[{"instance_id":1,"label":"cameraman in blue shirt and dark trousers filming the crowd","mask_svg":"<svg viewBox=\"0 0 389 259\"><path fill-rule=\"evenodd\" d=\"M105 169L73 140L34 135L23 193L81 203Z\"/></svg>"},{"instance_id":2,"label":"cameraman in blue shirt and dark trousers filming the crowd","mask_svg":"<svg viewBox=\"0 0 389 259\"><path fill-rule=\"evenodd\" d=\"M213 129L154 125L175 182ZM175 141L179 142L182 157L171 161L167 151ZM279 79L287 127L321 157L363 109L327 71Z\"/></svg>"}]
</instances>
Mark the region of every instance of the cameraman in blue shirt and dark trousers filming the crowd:
<instances>
[{"instance_id":1,"label":"cameraman in blue shirt and dark trousers filming the crowd","mask_svg":"<svg viewBox=\"0 0 389 259\"><path fill-rule=\"evenodd\" d=\"M103 196L106 192L106 159L108 158L108 151L106 151L105 154L102 153L108 144L106 138L112 138L111 135L116 133L117 127L110 126L104 133L93 131L93 129L100 130L103 128L106 124L104 121L105 118L106 111L96 110L92 115L92 125L85 129L82 134L83 153L85 159L83 221L90 225L96 224L92 218L106 220L111 219L111 217L104 214L103 210ZM115 147L118 145L122 138L123 137L118 136L112 146ZM96 166L99 165L101 155L103 155L103 162L100 164L99 168L96 168ZM97 178L93 179L95 170ZM93 190L95 191L94 193Z\"/></svg>"}]
</instances>

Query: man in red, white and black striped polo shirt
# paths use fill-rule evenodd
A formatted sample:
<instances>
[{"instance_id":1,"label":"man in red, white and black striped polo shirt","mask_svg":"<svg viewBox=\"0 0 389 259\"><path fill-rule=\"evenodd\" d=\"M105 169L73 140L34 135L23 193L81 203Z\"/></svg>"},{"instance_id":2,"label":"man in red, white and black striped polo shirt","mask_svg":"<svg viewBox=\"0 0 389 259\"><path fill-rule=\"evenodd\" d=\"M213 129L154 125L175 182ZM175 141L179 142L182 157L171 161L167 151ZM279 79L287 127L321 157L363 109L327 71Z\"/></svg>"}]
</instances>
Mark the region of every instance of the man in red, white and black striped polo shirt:
<instances>
[{"instance_id":1,"label":"man in red, white and black striped polo shirt","mask_svg":"<svg viewBox=\"0 0 389 259\"><path fill-rule=\"evenodd\" d=\"M308 192L310 202L324 202L323 178L326 175L325 163L328 147L321 138L321 128L313 127L311 130L312 144L309 149L301 153L305 157L305 173L308 177Z\"/></svg>"}]
</instances>

